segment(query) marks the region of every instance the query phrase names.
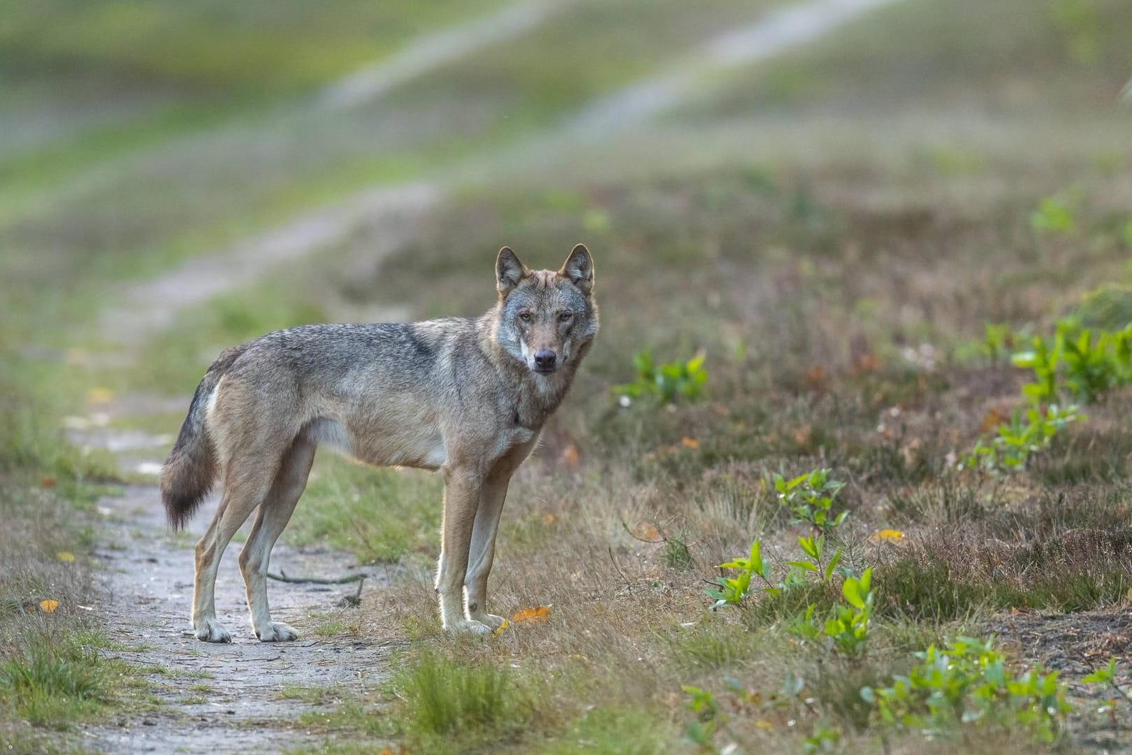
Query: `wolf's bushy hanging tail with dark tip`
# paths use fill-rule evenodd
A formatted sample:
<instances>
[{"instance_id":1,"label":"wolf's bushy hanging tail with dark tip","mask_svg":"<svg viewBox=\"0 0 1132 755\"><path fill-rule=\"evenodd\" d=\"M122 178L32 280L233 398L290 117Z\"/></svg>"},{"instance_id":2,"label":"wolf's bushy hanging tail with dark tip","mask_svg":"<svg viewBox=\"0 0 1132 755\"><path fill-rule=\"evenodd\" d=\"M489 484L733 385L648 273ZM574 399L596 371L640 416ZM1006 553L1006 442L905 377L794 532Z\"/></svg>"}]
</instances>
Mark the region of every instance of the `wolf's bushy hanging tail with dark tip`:
<instances>
[{"instance_id":1,"label":"wolf's bushy hanging tail with dark tip","mask_svg":"<svg viewBox=\"0 0 1132 755\"><path fill-rule=\"evenodd\" d=\"M220 474L216 451L205 430L205 413L208 396L241 351L239 346L225 351L208 368L192 394L189 414L181 424L177 443L161 467L161 499L174 530L185 526Z\"/></svg>"}]
</instances>

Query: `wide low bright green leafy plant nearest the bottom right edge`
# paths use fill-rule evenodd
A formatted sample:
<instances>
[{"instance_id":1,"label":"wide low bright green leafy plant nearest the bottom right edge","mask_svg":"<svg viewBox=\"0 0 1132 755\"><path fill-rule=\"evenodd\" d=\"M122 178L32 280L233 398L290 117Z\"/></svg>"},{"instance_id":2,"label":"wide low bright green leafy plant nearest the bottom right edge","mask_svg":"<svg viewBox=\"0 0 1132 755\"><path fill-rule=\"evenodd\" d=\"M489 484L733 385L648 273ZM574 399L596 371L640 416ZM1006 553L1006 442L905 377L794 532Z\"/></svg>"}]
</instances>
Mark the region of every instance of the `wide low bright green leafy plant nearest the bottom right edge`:
<instances>
[{"instance_id":1,"label":"wide low bright green leafy plant nearest the bottom right edge","mask_svg":"<svg viewBox=\"0 0 1132 755\"><path fill-rule=\"evenodd\" d=\"M1057 672L1040 666L1020 675L1006 668L994 638L958 637L945 649L916 653L919 664L893 676L890 687L863 687L880 721L895 730L946 736L964 727L1023 729L1041 743L1055 741L1071 705Z\"/></svg>"}]
</instances>

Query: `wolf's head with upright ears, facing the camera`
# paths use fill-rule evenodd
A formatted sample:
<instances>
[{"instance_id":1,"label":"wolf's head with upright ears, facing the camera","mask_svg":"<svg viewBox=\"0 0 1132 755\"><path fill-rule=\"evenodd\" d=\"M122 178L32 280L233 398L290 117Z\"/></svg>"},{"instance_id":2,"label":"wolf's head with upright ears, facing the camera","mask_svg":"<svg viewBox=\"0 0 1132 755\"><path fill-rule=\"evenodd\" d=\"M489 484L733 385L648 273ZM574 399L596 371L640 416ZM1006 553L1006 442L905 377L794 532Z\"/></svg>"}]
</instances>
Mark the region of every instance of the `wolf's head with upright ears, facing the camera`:
<instances>
[{"instance_id":1,"label":"wolf's head with upright ears, facing the camera","mask_svg":"<svg viewBox=\"0 0 1132 755\"><path fill-rule=\"evenodd\" d=\"M508 247L496 258L496 340L539 375L576 366L598 333L593 258L577 244L558 271L532 271Z\"/></svg>"}]
</instances>

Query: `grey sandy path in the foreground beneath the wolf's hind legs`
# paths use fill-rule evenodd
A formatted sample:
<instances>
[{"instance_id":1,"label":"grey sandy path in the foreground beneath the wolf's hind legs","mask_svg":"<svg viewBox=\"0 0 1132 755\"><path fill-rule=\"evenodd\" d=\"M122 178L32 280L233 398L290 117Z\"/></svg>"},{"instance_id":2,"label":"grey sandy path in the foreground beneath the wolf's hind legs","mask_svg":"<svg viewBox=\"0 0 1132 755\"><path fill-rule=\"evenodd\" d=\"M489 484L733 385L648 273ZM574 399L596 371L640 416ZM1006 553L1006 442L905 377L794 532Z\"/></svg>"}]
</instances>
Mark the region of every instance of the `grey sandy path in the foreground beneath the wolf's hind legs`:
<instances>
[{"instance_id":1,"label":"grey sandy path in the foreground beneath the wolf's hind legs","mask_svg":"<svg viewBox=\"0 0 1132 755\"><path fill-rule=\"evenodd\" d=\"M206 505L207 514L212 506ZM208 516L190 525L194 537L172 535L165 526L156 488L132 487L121 497L100 503L105 516L104 544L95 555L104 564L106 598L94 610L102 615L121 657L153 667L148 675L162 705L122 717L114 724L86 732L91 749L104 753L275 753L319 745L325 736L298 724L303 713L329 710L285 700L284 689L332 687L357 697L371 690L388 672L389 646L353 636L312 633L312 615L336 612L357 584L307 585L269 583L275 617L301 633L295 642L260 643L248 625L243 583L233 543L216 583L216 611L232 632L231 644L208 644L189 632L192 598L192 542ZM278 544L272 570L290 576L342 576L353 573L349 555L325 549L297 550ZM365 583L361 599L378 586Z\"/></svg>"}]
</instances>

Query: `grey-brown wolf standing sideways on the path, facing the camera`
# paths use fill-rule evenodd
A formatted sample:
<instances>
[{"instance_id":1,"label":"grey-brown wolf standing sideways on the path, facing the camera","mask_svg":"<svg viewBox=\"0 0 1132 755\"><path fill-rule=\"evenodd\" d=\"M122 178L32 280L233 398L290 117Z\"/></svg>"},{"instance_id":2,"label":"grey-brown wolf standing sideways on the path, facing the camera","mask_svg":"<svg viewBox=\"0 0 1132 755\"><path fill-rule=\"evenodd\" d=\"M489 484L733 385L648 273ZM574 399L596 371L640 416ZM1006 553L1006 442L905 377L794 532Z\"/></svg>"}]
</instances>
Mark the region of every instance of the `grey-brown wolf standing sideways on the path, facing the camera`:
<instances>
[{"instance_id":1,"label":"grey-brown wolf standing sideways on the path, facing the camera","mask_svg":"<svg viewBox=\"0 0 1132 755\"><path fill-rule=\"evenodd\" d=\"M504 247L496 291L479 318L305 325L217 357L161 473L174 529L223 480L196 546L191 618L199 640L231 642L216 620L216 570L252 512L239 556L251 628L261 642L299 636L272 620L267 564L319 444L375 466L439 470L440 620L452 633L490 634L503 624L487 610L499 515L512 474L598 334L593 258L577 244L558 271L532 271Z\"/></svg>"}]
</instances>

